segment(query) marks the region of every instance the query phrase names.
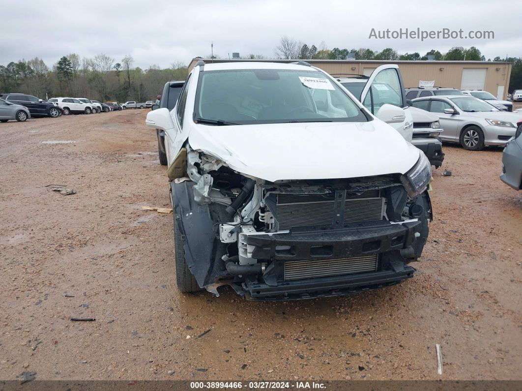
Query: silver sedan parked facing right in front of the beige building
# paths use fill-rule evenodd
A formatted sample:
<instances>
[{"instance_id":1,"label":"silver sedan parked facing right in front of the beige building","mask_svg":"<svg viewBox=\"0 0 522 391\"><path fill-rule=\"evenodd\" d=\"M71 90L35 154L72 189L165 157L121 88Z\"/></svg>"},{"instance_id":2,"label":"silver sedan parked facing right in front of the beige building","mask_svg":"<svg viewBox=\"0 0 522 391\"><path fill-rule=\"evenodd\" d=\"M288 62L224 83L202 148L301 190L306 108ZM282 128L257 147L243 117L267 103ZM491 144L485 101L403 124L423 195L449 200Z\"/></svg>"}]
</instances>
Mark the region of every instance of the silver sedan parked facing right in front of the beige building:
<instances>
[{"instance_id":1,"label":"silver sedan parked facing right in front of the beige building","mask_svg":"<svg viewBox=\"0 0 522 391\"><path fill-rule=\"evenodd\" d=\"M435 96L417 98L413 106L438 115L444 132L443 141L460 143L471 151L486 145L505 145L515 136L519 113L496 109L481 99L469 96Z\"/></svg>"}]
</instances>

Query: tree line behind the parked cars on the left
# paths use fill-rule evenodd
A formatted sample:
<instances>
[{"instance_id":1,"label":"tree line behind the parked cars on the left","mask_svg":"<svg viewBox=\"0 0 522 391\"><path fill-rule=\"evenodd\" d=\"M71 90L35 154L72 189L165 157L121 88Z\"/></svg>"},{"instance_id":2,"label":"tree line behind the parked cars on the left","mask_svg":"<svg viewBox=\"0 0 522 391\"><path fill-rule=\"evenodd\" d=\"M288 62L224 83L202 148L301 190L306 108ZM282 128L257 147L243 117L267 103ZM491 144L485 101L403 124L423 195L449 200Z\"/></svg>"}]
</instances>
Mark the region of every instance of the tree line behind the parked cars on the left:
<instances>
[{"instance_id":1,"label":"tree line behind the parked cars on the left","mask_svg":"<svg viewBox=\"0 0 522 391\"><path fill-rule=\"evenodd\" d=\"M173 63L160 69L134 67L134 58L124 56L120 62L103 53L92 58L76 53L65 55L51 67L41 58L19 60L0 65L0 92L23 92L41 99L52 97L86 97L102 102L155 100L168 80L185 80L187 66Z\"/></svg>"}]
</instances>

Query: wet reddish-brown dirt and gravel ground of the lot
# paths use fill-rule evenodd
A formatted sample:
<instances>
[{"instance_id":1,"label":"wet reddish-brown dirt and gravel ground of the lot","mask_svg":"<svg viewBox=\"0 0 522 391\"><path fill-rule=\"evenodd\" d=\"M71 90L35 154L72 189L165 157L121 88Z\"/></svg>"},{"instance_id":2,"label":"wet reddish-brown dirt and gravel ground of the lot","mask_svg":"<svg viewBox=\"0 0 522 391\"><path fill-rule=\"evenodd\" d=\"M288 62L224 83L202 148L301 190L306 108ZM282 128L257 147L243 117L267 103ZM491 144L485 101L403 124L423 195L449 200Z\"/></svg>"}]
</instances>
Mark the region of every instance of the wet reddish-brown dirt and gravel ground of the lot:
<instances>
[{"instance_id":1,"label":"wet reddish-brown dirt and gravel ground of the lot","mask_svg":"<svg viewBox=\"0 0 522 391\"><path fill-rule=\"evenodd\" d=\"M141 209L170 207L146 113L0 124L0 379L522 378L522 192L502 149L444 146L416 277L248 302L176 290L172 215Z\"/></svg>"}]
</instances>

